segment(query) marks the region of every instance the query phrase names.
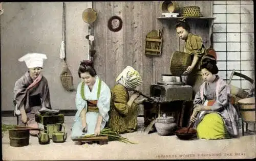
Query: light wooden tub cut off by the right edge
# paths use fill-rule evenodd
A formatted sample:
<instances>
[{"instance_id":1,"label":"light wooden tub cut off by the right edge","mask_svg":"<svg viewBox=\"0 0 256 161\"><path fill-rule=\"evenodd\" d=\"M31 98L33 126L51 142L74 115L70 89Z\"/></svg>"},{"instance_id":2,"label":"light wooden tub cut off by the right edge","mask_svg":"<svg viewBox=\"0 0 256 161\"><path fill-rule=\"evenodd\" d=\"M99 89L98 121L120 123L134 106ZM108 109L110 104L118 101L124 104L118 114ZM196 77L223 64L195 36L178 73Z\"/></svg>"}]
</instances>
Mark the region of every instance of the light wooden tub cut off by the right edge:
<instances>
[{"instance_id":1,"label":"light wooden tub cut off by the right edge","mask_svg":"<svg viewBox=\"0 0 256 161\"><path fill-rule=\"evenodd\" d=\"M238 104L243 121L255 122L255 97L240 99Z\"/></svg>"}]
</instances>

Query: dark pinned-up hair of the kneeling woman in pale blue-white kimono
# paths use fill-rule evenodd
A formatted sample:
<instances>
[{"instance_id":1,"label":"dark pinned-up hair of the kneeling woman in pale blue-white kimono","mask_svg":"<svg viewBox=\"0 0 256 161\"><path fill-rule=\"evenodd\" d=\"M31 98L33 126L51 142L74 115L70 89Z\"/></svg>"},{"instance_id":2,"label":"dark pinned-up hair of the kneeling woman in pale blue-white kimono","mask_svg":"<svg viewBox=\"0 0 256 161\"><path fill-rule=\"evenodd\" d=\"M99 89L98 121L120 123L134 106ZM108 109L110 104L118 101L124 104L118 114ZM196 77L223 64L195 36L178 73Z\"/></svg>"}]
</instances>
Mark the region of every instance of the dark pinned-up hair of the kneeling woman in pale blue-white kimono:
<instances>
[{"instance_id":1,"label":"dark pinned-up hair of the kneeling woman in pale blue-white kimono","mask_svg":"<svg viewBox=\"0 0 256 161\"><path fill-rule=\"evenodd\" d=\"M93 67L93 61L91 60L83 60L80 62L80 66L78 69L78 75L81 77L81 73L89 72L93 77L96 76L96 71Z\"/></svg>"}]
</instances>

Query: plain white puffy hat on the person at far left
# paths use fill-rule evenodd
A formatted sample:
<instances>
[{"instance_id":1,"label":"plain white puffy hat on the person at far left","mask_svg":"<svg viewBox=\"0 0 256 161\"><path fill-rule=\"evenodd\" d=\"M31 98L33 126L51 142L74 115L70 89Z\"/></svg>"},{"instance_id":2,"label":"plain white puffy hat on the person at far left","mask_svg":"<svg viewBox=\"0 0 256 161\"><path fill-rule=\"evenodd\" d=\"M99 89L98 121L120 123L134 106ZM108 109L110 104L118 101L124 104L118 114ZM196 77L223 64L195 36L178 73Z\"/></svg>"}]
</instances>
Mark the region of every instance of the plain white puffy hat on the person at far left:
<instances>
[{"instance_id":1,"label":"plain white puffy hat on the person at far left","mask_svg":"<svg viewBox=\"0 0 256 161\"><path fill-rule=\"evenodd\" d=\"M25 61L28 68L41 67L44 64L44 59L47 59L44 53L27 53L22 58L19 58L18 61Z\"/></svg>"}]
</instances>

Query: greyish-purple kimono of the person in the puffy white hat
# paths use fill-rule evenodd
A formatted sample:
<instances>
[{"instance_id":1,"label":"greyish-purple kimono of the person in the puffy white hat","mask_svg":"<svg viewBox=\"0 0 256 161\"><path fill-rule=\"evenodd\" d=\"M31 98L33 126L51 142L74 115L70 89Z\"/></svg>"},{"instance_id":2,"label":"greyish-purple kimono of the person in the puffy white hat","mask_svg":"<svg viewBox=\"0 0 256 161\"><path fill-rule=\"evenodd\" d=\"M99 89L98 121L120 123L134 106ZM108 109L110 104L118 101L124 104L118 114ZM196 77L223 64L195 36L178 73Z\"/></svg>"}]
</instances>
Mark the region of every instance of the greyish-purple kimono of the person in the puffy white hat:
<instances>
[{"instance_id":1,"label":"greyish-purple kimono of the person in the puffy white hat","mask_svg":"<svg viewBox=\"0 0 256 161\"><path fill-rule=\"evenodd\" d=\"M34 118L35 115L32 113L37 113L41 108L52 109L47 79L44 76L41 76L38 83L33 85L33 87L28 88L31 84L33 84L33 79L27 71L16 81L14 87L14 99L16 101L17 110L24 105L28 119ZM21 116L19 116L18 124L25 126L20 119Z\"/></svg>"}]
</instances>

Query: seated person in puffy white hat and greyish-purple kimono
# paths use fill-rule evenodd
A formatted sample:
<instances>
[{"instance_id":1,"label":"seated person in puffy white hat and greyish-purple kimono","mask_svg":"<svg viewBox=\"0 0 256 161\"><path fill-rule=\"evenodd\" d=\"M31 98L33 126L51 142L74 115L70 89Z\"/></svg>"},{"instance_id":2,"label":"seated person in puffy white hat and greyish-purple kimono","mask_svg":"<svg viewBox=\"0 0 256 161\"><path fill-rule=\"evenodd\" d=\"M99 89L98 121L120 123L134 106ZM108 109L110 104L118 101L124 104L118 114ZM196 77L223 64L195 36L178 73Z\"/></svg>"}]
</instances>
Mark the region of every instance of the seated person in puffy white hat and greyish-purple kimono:
<instances>
[{"instance_id":1,"label":"seated person in puffy white hat and greyish-purple kimono","mask_svg":"<svg viewBox=\"0 0 256 161\"><path fill-rule=\"evenodd\" d=\"M47 57L43 53L27 53L18 60L24 61L28 67L28 71L16 81L14 87L15 113L19 115L19 125L26 125L42 108L52 109L48 82L41 75L45 59Z\"/></svg>"}]
</instances>

